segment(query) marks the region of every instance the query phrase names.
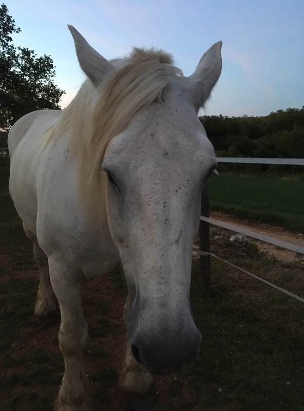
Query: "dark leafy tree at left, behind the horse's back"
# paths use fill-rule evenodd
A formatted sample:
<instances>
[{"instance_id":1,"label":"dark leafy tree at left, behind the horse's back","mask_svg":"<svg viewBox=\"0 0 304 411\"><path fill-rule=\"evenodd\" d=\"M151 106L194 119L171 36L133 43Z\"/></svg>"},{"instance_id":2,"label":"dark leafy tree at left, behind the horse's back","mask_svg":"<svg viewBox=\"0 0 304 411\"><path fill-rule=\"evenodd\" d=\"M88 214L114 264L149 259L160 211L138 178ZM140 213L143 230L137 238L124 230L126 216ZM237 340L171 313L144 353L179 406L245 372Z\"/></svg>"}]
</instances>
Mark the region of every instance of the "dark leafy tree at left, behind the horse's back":
<instances>
[{"instance_id":1,"label":"dark leafy tree at left, behind the horse's back","mask_svg":"<svg viewBox=\"0 0 304 411\"><path fill-rule=\"evenodd\" d=\"M64 91L53 78L51 57L37 57L33 50L15 47L12 34L20 32L8 15L5 4L0 7L0 130L8 130L23 115L39 109L60 109Z\"/></svg>"}]
</instances>

